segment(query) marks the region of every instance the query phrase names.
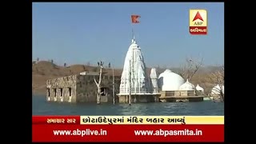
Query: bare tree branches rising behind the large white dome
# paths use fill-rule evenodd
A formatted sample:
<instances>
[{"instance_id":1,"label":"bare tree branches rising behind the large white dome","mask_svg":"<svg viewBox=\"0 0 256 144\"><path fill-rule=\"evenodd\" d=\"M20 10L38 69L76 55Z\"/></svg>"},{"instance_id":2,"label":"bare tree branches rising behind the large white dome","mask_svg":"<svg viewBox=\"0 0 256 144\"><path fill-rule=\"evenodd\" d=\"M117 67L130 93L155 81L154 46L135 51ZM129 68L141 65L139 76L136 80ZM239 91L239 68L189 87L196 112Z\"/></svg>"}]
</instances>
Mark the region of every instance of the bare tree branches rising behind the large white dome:
<instances>
[{"instance_id":1,"label":"bare tree branches rising behind the large white dome","mask_svg":"<svg viewBox=\"0 0 256 144\"><path fill-rule=\"evenodd\" d=\"M179 74L184 79L188 79L190 81L193 78L194 74L198 72L198 69L202 66L203 58L200 61L195 60L194 58L186 58L186 63L181 66L179 70Z\"/></svg>"}]
</instances>

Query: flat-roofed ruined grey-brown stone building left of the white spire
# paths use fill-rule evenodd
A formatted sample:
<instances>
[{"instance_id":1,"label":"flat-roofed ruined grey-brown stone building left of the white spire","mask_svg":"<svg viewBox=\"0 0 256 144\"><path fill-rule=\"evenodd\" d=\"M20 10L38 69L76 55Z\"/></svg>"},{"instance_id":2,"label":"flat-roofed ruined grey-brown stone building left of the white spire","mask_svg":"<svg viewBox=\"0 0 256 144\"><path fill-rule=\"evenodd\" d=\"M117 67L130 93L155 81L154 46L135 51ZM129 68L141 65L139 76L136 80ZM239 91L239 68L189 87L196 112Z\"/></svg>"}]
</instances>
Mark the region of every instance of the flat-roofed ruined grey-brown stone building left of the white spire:
<instances>
[{"instance_id":1,"label":"flat-roofed ruined grey-brown stone building left of the white spire","mask_svg":"<svg viewBox=\"0 0 256 144\"><path fill-rule=\"evenodd\" d=\"M82 72L62 78L46 81L46 100L48 102L96 102L97 86L94 78L98 79L98 72ZM113 102L113 76L103 75L101 102ZM114 77L116 83L120 77ZM118 99L117 99L118 101Z\"/></svg>"}]
</instances>

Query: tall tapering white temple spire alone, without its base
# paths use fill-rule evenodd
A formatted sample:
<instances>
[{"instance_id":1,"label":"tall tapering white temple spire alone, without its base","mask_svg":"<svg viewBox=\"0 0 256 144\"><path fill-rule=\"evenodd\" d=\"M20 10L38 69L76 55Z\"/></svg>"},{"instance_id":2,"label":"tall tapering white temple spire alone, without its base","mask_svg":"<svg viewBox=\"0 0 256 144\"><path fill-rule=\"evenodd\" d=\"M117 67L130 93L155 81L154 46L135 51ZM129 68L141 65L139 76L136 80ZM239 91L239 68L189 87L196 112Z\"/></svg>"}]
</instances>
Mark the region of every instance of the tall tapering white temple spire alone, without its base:
<instances>
[{"instance_id":1,"label":"tall tapering white temple spire alone, without its base","mask_svg":"<svg viewBox=\"0 0 256 144\"><path fill-rule=\"evenodd\" d=\"M126 54L118 95L129 94L130 85L131 94L149 94L152 91L150 89L150 78L146 74L143 54L135 38L132 39Z\"/></svg>"}]
</instances>

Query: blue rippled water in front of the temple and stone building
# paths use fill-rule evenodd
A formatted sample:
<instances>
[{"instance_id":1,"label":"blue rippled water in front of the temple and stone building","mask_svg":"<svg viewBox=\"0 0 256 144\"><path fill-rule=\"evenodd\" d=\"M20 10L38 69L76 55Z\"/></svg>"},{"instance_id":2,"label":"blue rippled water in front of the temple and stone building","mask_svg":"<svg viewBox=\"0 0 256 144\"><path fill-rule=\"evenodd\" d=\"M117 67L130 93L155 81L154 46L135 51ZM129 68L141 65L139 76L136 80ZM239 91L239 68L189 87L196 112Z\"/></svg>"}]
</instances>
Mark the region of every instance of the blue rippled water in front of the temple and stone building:
<instances>
[{"instance_id":1,"label":"blue rippled water in front of the temple and stone building","mask_svg":"<svg viewBox=\"0 0 256 144\"><path fill-rule=\"evenodd\" d=\"M72 104L46 102L33 96L33 115L224 115L223 102L156 102L132 104Z\"/></svg>"}]
</instances>

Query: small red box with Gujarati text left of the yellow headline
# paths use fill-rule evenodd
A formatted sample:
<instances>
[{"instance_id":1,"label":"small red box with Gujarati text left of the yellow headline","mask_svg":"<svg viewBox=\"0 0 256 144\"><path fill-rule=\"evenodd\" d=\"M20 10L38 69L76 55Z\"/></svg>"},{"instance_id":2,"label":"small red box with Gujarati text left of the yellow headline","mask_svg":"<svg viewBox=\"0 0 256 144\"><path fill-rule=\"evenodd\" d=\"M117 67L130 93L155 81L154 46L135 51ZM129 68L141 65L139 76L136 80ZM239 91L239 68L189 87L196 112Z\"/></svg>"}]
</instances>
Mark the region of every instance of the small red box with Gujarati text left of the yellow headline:
<instances>
[{"instance_id":1,"label":"small red box with Gujarati text left of the yellow headline","mask_svg":"<svg viewBox=\"0 0 256 144\"><path fill-rule=\"evenodd\" d=\"M33 116L32 124L80 124L80 116Z\"/></svg>"}]
</instances>

